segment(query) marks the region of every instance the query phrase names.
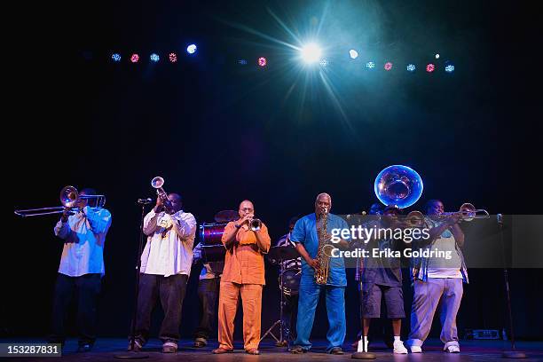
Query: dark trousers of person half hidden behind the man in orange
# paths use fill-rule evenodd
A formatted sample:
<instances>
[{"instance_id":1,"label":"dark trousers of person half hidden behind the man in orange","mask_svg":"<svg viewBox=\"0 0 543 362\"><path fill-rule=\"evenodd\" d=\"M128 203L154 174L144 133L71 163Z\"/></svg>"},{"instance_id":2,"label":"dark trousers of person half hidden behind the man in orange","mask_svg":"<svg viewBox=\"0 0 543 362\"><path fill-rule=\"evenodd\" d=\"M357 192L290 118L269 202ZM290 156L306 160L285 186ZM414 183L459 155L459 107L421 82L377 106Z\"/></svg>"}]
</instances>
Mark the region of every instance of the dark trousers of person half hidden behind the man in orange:
<instances>
[{"instance_id":1,"label":"dark trousers of person half hidden behind the man in orange","mask_svg":"<svg viewBox=\"0 0 543 362\"><path fill-rule=\"evenodd\" d=\"M212 325L216 321L217 300L220 278L200 279L198 282L198 298L200 299L200 326L194 331L194 338L207 340L211 335Z\"/></svg>"}]
</instances>

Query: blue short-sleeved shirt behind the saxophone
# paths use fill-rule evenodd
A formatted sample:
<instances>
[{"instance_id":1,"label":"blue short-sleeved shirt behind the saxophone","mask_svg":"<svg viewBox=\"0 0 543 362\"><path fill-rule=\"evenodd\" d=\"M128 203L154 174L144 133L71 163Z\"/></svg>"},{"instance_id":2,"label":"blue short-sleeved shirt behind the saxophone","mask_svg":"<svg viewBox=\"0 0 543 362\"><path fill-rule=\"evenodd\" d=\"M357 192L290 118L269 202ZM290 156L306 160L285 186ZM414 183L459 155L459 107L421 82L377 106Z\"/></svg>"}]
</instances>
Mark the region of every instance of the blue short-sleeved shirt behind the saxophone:
<instances>
[{"instance_id":1,"label":"blue short-sleeved shirt behind the saxophone","mask_svg":"<svg viewBox=\"0 0 543 362\"><path fill-rule=\"evenodd\" d=\"M327 219L327 232L332 233L331 230L334 228L338 229L349 229L349 225L345 220L340 216L335 216L333 214L328 214ZM307 251L311 258L317 257L317 252L319 249L319 236L317 234L317 216L315 214L310 214L303 216L299 219L294 230L290 233L290 240L295 243L300 243L303 245L303 248ZM302 258L302 279L308 280L311 279L313 282L315 280L314 269L305 262ZM345 264L343 264L342 257L330 257L330 269L328 271L328 286L335 287L346 287L347 286L347 277L345 276Z\"/></svg>"}]
</instances>

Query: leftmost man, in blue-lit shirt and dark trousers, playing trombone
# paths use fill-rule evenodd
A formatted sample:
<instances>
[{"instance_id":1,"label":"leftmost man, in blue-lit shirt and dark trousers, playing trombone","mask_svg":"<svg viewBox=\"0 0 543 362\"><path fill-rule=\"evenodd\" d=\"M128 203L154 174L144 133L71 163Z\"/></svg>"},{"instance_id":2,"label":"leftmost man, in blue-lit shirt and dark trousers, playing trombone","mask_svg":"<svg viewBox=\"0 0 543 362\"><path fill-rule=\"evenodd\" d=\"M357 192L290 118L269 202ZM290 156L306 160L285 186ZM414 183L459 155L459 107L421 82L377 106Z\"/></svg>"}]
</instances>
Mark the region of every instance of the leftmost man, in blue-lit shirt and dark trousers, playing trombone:
<instances>
[{"instance_id":1,"label":"leftmost man, in blue-lit shirt and dark trousers, playing trombone","mask_svg":"<svg viewBox=\"0 0 543 362\"><path fill-rule=\"evenodd\" d=\"M77 293L78 351L89 351L96 340L96 316L101 278L104 276L104 243L111 225L111 213L97 206L96 192L79 193L77 209L64 209L54 233L64 240L59 275L55 285L51 343L64 344L64 319Z\"/></svg>"}]
</instances>

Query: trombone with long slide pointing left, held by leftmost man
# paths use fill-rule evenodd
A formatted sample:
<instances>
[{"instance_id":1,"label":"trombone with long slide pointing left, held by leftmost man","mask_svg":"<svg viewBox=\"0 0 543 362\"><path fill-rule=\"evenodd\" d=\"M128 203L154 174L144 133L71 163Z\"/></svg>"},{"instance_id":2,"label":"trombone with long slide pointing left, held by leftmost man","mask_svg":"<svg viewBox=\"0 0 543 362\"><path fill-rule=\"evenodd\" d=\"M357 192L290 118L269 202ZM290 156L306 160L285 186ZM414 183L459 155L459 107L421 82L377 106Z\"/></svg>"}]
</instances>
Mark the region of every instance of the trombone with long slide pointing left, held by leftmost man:
<instances>
[{"instance_id":1,"label":"trombone with long slide pointing left, held by leftmost man","mask_svg":"<svg viewBox=\"0 0 543 362\"><path fill-rule=\"evenodd\" d=\"M62 206L53 206L50 208L21 209L15 210L15 215L21 217L42 216L60 214L64 210L83 209L83 202L86 200L96 200L96 207L103 208L106 205L106 196L104 195L81 195L74 186L66 186L60 190L60 203ZM83 207L82 207L83 206Z\"/></svg>"}]
</instances>

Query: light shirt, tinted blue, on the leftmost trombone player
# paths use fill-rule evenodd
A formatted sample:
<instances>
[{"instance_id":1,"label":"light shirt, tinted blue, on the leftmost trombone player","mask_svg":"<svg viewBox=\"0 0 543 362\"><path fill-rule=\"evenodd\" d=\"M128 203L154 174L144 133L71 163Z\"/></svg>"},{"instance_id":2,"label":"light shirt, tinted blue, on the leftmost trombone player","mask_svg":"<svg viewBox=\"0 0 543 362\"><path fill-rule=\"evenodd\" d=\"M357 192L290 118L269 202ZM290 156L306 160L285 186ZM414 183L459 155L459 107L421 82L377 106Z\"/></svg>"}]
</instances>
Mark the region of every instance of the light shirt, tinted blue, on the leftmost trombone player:
<instances>
[{"instance_id":1,"label":"light shirt, tinted blue, on the leftmost trombone player","mask_svg":"<svg viewBox=\"0 0 543 362\"><path fill-rule=\"evenodd\" d=\"M70 277L84 274L105 274L104 242L111 225L111 213L106 209L86 206L83 212L68 216L66 223L61 220L54 232L64 239L60 257L59 273Z\"/></svg>"}]
</instances>

